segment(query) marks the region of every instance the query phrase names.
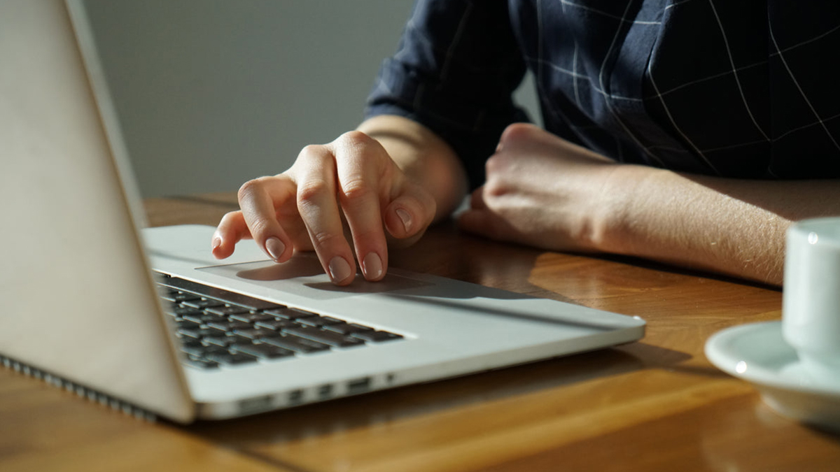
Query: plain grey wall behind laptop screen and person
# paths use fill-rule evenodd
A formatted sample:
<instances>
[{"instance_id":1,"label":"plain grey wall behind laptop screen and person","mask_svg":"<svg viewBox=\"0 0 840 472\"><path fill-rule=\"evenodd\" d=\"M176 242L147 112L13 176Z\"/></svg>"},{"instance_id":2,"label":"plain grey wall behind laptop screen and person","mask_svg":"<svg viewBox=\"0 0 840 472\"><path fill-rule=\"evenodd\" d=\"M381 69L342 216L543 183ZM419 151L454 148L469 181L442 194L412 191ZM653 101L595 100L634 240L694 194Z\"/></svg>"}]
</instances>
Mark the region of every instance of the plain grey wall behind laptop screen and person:
<instances>
[{"instance_id":1,"label":"plain grey wall behind laptop screen and person","mask_svg":"<svg viewBox=\"0 0 840 472\"><path fill-rule=\"evenodd\" d=\"M235 190L354 128L412 1L87 7L140 191L157 197Z\"/></svg>"}]
</instances>

